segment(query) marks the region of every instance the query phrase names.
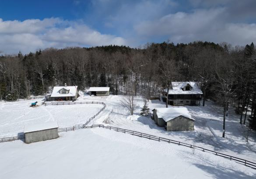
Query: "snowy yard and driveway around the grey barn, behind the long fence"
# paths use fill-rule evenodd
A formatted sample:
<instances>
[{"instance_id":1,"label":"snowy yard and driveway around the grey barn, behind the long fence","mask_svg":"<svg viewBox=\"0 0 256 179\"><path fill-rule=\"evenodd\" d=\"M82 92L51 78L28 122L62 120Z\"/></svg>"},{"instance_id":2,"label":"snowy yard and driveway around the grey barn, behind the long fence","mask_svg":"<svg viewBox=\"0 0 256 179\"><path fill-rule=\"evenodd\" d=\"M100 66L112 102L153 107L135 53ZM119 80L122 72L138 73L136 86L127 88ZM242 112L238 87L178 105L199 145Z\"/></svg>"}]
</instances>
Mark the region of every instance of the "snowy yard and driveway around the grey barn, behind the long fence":
<instances>
[{"instance_id":1,"label":"snowy yard and driveway around the grey barn, behind the long fence","mask_svg":"<svg viewBox=\"0 0 256 179\"><path fill-rule=\"evenodd\" d=\"M226 136L222 138L223 109L214 102L206 101L205 107L186 106L196 120L195 131L168 132L164 127L158 127L150 117L140 116L140 109L137 109L133 116L127 114L128 111L121 103L123 96L87 95L80 98L85 101L102 101L107 105L106 109L91 124L104 124L144 132L256 162L256 133L250 134L247 143L238 122L240 118L231 109L226 119ZM137 103L142 107L143 98L137 97ZM152 110L165 107L165 104L159 100L150 100L149 107Z\"/></svg>"}]
</instances>

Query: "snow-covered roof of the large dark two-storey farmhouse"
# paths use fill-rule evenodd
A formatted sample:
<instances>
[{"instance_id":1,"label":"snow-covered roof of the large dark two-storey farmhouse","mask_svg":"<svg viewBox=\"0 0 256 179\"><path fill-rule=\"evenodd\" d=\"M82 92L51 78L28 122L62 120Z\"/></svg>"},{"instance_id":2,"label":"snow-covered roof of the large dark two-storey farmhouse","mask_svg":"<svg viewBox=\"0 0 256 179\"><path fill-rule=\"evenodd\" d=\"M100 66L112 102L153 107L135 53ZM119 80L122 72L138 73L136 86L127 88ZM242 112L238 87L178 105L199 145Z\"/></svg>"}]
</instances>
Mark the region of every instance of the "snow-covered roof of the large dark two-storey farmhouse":
<instances>
[{"instance_id":1,"label":"snow-covered roof of the large dark two-storey farmhouse","mask_svg":"<svg viewBox=\"0 0 256 179\"><path fill-rule=\"evenodd\" d=\"M183 88L188 84L192 89L183 91ZM167 93L167 88L164 91ZM203 92L196 82L172 82L172 89L169 89L168 94L203 94Z\"/></svg>"}]
</instances>

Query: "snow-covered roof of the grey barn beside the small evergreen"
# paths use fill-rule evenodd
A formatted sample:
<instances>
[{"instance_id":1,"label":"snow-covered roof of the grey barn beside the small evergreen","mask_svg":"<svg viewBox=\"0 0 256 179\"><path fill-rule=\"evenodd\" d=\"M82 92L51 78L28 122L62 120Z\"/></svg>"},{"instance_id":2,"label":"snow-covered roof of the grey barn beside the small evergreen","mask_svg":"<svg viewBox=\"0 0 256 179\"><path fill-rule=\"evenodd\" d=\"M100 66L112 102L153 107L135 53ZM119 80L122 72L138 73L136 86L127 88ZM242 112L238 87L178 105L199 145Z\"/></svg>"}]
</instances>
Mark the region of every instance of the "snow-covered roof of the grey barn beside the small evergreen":
<instances>
[{"instance_id":1,"label":"snow-covered roof of the grey barn beside the small evergreen","mask_svg":"<svg viewBox=\"0 0 256 179\"><path fill-rule=\"evenodd\" d=\"M157 110L157 115L159 118L163 118L165 122L174 119L175 117L184 116L189 119L194 120L189 110L186 107L168 107L168 108L155 108Z\"/></svg>"}]
</instances>

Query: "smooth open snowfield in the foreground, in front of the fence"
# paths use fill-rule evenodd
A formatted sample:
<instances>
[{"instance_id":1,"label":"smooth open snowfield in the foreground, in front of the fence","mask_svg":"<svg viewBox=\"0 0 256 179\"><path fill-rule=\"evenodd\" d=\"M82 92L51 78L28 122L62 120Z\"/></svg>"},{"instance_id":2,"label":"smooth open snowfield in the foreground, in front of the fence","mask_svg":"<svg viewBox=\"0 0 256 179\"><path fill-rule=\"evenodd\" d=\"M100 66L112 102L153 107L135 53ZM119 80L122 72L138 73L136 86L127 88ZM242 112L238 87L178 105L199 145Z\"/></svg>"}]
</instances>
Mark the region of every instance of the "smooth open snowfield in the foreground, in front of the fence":
<instances>
[{"instance_id":1,"label":"smooth open snowfield in the foreground, in front of the fence","mask_svg":"<svg viewBox=\"0 0 256 179\"><path fill-rule=\"evenodd\" d=\"M254 179L256 170L203 151L109 131L60 133L25 144L0 143L0 178L6 179Z\"/></svg>"}]
</instances>

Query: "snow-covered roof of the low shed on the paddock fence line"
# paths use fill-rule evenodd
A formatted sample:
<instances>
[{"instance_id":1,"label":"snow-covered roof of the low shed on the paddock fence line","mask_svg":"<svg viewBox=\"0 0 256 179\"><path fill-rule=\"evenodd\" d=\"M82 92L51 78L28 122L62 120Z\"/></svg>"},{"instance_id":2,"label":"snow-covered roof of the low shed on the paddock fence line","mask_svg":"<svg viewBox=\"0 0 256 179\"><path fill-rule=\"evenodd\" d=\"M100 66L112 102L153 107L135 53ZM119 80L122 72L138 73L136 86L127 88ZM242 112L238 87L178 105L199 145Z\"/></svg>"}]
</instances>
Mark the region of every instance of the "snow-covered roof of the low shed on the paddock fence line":
<instances>
[{"instance_id":1,"label":"snow-covered roof of the low shed on the paddock fence line","mask_svg":"<svg viewBox=\"0 0 256 179\"><path fill-rule=\"evenodd\" d=\"M58 128L58 123L56 121L45 122L40 124L26 124L24 126L24 133L42 131L46 129Z\"/></svg>"}]
</instances>

